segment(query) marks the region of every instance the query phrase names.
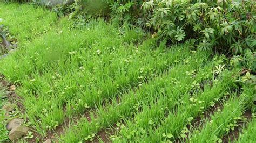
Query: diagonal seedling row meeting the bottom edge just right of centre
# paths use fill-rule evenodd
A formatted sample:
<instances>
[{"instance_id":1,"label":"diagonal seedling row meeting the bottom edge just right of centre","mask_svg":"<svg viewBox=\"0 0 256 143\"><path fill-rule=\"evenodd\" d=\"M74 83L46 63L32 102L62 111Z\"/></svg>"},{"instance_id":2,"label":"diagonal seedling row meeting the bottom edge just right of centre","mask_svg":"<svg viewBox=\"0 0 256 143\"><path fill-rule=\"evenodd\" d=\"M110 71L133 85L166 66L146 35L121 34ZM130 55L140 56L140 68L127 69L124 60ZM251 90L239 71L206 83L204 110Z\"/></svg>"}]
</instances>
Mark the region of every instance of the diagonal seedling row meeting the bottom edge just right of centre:
<instances>
[{"instance_id":1,"label":"diagonal seedling row meeting the bottom edge just right of centre","mask_svg":"<svg viewBox=\"0 0 256 143\"><path fill-rule=\"evenodd\" d=\"M185 138L188 132L186 126L205 111L214 102L215 98L220 98L224 92L232 85L234 78L232 72L221 73L220 77L213 81L213 85L206 84L204 90L197 92L192 97L184 95L183 99L172 108L171 112L163 119L154 123L156 127L147 125L146 128L138 128L137 124L129 122L115 138L115 142L122 141L174 141L177 138ZM141 130L141 131L140 131Z\"/></svg>"}]
</instances>

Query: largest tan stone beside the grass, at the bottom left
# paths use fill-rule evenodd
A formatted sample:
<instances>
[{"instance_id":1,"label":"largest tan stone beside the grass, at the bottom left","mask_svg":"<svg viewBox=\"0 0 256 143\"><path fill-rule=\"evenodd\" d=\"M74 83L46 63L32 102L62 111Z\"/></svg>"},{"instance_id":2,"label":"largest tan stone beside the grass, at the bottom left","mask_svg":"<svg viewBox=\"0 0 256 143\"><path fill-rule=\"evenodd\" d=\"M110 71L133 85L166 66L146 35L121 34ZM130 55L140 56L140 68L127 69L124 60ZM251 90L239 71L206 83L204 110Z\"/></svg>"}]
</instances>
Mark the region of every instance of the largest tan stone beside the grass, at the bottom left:
<instances>
[{"instance_id":1,"label":"largest tan stone beside the grass, at the bottom left","mask_svg":"<svg viewBox=\"0 0 256 143\"><path fill-rule=\"evenodd\" d=\"M16 126L11 129L8 137L11 141L15 141L28 134L29 128L26 126Z\"/></svg>"}]
</instances>

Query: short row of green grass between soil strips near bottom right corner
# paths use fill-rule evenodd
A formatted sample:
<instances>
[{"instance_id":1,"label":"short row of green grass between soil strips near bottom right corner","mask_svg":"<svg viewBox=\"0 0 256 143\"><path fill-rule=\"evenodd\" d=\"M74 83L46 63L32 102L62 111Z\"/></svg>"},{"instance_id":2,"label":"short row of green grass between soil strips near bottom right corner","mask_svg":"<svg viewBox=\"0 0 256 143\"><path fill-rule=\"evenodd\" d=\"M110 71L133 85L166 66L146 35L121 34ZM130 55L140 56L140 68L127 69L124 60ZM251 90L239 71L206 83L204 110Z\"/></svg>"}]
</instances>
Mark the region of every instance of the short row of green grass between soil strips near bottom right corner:
<instances>
[{"instance_id":1,"label":"short row of green grass between soil strips near bottom right corner","mask_svg":"<svg viewBox=\"0 0 256 143\"><path fill-rule=\"evenodd\" d=\"M221 137L237 125L237 120L241 118L244 108L238 98L232 97L229 102L225 103L221 112L211 116L211 120L208 120L200 131L195 131L196 133L191 135L190 142L221 141Z\"/></svg>"}]
</instances>

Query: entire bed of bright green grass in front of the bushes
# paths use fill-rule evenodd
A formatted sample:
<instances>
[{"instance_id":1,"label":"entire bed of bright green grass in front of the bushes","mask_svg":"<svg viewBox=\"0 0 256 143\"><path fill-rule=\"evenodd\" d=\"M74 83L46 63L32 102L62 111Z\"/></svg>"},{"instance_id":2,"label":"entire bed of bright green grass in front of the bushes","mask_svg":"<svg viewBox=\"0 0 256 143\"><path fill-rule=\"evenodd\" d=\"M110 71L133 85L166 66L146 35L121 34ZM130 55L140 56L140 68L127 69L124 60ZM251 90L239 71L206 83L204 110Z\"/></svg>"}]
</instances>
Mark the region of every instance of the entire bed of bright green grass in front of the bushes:
<instances>
[{"instance_id":1,"label":"entire bed of bright green grass in front of the bushes","mask_svg":"<svg viewBox=\"0 0 256 143\"><path fill-rule=\"evenodd\" d=\"M139 28L103 19L70 29L72 20L28 4L0 3L0 14L19 43L0 60L0 73L17 84L23 116L42 137L63 125L60 142L91 141L106 128L118 128L113 142L181 141L194 119L235 89L237 70L214 73L227 59L192 51L189 43L166 47ZM247 107L237 96L224 101L230 106L211 116L214 126L207 120L191 141L222 137Z\"/></svg>"}]
</instances>

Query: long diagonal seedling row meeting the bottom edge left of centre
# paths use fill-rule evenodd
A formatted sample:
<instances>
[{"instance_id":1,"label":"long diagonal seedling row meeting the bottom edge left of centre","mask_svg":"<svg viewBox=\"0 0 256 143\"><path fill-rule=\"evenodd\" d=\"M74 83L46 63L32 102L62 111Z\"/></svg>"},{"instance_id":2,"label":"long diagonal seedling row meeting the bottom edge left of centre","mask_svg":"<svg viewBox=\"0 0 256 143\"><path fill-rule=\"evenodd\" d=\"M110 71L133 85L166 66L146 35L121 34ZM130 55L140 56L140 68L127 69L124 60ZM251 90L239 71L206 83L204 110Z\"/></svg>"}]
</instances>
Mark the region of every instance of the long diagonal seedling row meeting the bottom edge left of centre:
<instances>
[{"instance_id":1,"label":"long diagonal seedling row meeting the bottom edge left of centre","mask_svg":"<svg viewBox=\"0 0 256 143\"><path fill-rule=\"evenodd\" d=\"M138 90L130 89L130 92L120 95L119 101L113 99L107 106L97 106L97 110L91 112L91 121L86 118L81 119L77 126L68 128L66 134L60 140L63 142L93 140L93 137L100 130L134 117L137 112L142 110L143 104L146 106L146 104L156 100L158 96L164 98L164 96L167 96L166 92L169 92L170 96L173 95L173 102L176 101L179 98L178 95L181 96L192 88L196 88L198 86L197 83L203 80L202 78L209 76L209 70L211 70L212 66L206 66L207 68L205 67L198 71L200 75L205 76L194 77L197 80L193 78L194 71L202 67L207 58L208 54L199 52L196 56L187 58L188 62L178 63L165 75L150 80Z\"/></svg>"}]
</instances>

